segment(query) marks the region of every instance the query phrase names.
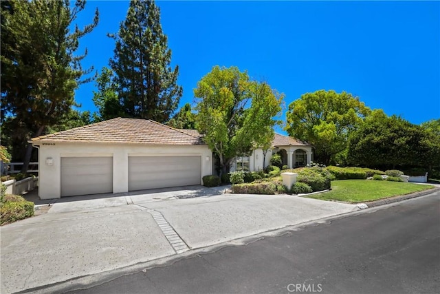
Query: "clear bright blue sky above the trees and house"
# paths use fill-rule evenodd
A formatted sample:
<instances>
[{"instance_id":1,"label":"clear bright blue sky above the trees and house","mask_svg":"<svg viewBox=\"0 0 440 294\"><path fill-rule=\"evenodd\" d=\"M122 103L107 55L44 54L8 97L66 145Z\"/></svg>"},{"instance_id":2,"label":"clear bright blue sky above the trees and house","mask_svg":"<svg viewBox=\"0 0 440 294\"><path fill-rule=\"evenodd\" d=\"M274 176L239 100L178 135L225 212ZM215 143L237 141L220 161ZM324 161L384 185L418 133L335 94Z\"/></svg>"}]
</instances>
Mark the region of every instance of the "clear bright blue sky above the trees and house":
<instances>
[{"instance_id":1,"label":"clear bright blue sky above the trees and house","mask_svg":"<svg viewBox=\"0 0 440 294\"><path fill-rule=\"evenodd\" d=\"M80 40L83 66L108 66L128 1L88 1L77 23L98 27ZM336 90L372 109L419 124L440 118L439 1L157 1L179 65L180 106L214 65L239 67L285 94ZM96 111L94 82L76 91L81 110ZM285 116L283 115L283 119ZM281 131L281 130L280 130Z\"/></svg>"}]
</instances>

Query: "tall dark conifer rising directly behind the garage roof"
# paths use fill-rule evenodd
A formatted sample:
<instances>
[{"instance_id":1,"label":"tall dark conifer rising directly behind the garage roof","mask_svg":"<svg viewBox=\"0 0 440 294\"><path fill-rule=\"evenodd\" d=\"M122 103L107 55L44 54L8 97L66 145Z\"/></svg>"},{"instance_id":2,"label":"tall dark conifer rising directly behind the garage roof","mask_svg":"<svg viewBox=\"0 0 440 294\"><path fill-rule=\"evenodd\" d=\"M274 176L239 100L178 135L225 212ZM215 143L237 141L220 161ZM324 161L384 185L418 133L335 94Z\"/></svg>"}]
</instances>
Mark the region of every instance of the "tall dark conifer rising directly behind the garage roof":
<instances>
[{"instance_id":1,"label":"tall dark conifer rising directly behind the garage roof","mask_svg":"<svg viewBox=\"0 0 440 294\"><path fill-rule=\"evenodd\" d=\"M116 42L110 65L124 116L165 123L182 88L177 85L179 67L170 67L171 50L155 2L132 0L118 34L110 36Z\"/></svg>"}]
</instances>

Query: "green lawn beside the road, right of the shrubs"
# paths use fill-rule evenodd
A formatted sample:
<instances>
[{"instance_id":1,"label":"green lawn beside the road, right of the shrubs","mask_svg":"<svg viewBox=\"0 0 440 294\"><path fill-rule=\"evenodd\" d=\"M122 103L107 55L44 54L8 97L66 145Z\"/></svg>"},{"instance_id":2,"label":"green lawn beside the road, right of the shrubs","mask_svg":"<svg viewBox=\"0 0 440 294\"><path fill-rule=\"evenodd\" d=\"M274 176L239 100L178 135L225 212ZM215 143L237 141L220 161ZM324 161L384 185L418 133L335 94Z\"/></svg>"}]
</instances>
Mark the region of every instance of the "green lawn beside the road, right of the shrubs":
<instances>
[{"instance_id":1,"label":"green lawn beside the road, right of the shrubs","mask_svg":"<svg viewBox=\"0 0 440 294\"><path fill-rule=\"evenodd\" d=\"M367 202L432 189L431 185L410 182L388 182L382 180L333 180L331 191L308 196L320 200L343 202Z\"/></svg>"}]
</instances>

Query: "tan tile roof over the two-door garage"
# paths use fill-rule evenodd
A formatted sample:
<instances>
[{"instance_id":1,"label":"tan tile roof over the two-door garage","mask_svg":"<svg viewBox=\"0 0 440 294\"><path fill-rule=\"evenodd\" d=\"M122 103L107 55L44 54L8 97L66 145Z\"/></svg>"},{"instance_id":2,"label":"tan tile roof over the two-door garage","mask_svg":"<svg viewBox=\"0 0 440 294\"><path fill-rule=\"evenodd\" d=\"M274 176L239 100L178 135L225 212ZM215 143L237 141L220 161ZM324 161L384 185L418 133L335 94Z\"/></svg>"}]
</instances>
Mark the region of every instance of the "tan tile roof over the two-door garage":
<instances>
[{"instance_id":1,"label":"tan tile roof over the two-door garage","mask_svg":"<svg viewBox=\"0 0 440 294\"><path fill-rule=\"evenodd\" d=\"M31 143L134 143L146 145L204 145L197 130L182 130L154 120L113 118L100 123L30 139Z\"/></svg>"}]
</instances>

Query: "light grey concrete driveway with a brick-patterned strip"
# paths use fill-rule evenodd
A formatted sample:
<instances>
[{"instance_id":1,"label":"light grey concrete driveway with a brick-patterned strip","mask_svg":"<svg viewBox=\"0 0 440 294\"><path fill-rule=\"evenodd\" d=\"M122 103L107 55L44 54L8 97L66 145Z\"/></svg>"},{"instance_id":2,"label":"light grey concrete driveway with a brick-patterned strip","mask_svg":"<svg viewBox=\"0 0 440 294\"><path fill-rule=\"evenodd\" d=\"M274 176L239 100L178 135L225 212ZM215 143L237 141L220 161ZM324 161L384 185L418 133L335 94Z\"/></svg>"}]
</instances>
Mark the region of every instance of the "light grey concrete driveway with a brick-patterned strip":
<instances>
[{"instance_id":1,"label":"light grey concrete driveway with a brick-patterned strip","mask_svg":"<svg viewBox=\"0 0 440 294\"><path fill-rule=\"evenodd\" d=\"M353 204L287 195L221 194L223 189L195 186L56 200L48 213L1 227L0 292L65 282L358 210Z\"/></svg>"}]
</instances>

